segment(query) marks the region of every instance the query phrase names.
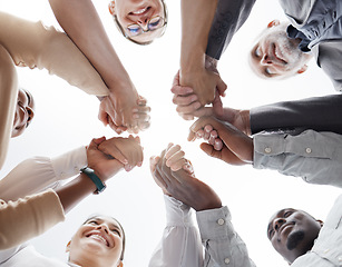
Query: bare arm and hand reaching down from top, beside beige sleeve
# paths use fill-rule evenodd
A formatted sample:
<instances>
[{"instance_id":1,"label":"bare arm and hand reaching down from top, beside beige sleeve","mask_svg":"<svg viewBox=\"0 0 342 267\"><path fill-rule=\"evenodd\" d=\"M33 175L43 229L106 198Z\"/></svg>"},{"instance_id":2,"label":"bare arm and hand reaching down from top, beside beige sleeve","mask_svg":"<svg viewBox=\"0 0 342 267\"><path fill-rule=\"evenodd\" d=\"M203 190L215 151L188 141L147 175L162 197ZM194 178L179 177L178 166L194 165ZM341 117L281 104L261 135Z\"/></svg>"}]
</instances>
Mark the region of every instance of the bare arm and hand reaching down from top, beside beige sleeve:
<instances>
[{"instance_id":1,"label":"bare arm and hand reaching down from top, beside beige sleeve","mask_svg":"<svg viewBox=\"0 0 342 267\"><path fill-rule=\"evenodd\" d=\"M127 128L138 131L138 122L133 118L133 109L137 108L137 90L115 52L92 2L50 0L50 6L60 26L89 59L110 91L101 100L99 119L117 132Z\"/></svg>"}]
</instances>

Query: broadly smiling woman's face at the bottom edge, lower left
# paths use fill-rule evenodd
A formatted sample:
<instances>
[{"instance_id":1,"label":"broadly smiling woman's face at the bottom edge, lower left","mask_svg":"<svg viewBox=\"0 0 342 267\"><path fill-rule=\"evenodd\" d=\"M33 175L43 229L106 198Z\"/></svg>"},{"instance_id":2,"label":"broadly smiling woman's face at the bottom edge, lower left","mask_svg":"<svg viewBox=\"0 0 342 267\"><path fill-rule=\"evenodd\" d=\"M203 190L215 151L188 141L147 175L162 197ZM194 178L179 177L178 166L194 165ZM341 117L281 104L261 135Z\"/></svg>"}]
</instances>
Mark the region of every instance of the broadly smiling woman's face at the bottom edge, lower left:
<instances>
[{"instance_id":1,"label":"broadly smiling woman's face at the bottom edge, lower left","mask_svg":"<svg viewBox=\"0 0 342 267\"><path fill-rule=\"evenodd\" d=\"M67 247L69 261L80 266L118 266L124 231L114 218L98 216L88 219Z\"/></svg>"}]
</instances>

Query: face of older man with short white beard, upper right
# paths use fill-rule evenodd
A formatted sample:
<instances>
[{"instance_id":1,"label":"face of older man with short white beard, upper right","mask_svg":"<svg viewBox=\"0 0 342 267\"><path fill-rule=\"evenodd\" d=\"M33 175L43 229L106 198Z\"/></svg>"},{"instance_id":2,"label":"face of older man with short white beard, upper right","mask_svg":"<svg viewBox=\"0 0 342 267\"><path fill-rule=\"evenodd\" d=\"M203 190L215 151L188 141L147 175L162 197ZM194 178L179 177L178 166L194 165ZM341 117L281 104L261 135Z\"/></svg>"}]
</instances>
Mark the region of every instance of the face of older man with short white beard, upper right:
<instances>
[{"instance_id":1,"label":"face of older man with short white beard, upper right","mask_svg":"<svg viewBox=\"0 0 342 267\"><path fill-rule=\"evenodd\" d=\"M311 55L299 49L300 39L287 37L287 23L268 23L260 41L253 47L250 63L262 78L287 78L306 70Z\"/></svg>"}]
</instances>

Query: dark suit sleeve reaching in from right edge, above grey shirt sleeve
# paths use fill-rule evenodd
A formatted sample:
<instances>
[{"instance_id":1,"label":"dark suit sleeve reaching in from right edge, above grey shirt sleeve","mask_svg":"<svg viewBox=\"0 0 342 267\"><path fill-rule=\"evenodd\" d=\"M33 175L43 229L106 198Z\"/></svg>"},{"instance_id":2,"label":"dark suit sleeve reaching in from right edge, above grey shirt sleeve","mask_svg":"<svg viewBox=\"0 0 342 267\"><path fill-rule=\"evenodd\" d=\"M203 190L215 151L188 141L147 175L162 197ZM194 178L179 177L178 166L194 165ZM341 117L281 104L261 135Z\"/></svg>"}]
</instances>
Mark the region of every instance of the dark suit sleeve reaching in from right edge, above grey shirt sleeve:
<instances>
[{"instance_id":1,"label":"dark suit sleeve reaching in from right edge, above grey shirt sleeve","mask_svg":"<svg viewBox=\"0 0 342 267\"><path fill-rule=\"evenodd\" d=\"M342 134L342 95L277 102L251 109L252 135L263 130L306 128Z\"/></svg>"}]
</instances>

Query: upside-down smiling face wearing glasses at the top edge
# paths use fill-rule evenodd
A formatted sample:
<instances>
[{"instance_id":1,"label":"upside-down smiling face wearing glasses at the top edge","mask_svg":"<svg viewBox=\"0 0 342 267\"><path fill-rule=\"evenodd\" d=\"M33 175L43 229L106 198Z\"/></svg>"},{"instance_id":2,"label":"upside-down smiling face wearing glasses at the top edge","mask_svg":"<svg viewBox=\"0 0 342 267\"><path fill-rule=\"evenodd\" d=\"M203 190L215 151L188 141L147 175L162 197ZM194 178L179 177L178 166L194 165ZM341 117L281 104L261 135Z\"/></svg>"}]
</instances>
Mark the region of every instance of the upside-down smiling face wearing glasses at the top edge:
<instances>
[{"instance_id":1,"label":"upside-down smiling face wearing glasses at the top edge","mask_svg":"<svg viewBox=\"0 0 342 267\"><path fill-rule=\"evenodd\" d=\"M111 0L109 9L134 41L149 42L164 32L167 18L162 0Z\"/></svg>"}]
</instances>

